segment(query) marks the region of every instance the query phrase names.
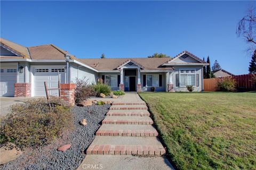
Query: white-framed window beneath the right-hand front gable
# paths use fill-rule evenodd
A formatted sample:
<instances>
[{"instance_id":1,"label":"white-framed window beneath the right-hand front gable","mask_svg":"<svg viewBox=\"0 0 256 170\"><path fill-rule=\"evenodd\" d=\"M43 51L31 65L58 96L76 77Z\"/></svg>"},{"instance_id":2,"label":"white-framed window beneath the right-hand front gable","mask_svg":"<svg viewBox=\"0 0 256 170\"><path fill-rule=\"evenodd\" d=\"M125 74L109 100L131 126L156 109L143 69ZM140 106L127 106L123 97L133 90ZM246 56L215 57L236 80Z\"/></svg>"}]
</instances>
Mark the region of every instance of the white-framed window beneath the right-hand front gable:
<instances>
[{"instance_id":1,"label":"white-framed window beneath the right-hand front gable","mask_svg":"<svg viewBox=\"0 0 256 170\"><path fill-rule=\"evenodd\" d=\"M187 85L196 86L196 70L195 69L182 69L180 70L180 87Z\"/></svg>"}]
</instances>

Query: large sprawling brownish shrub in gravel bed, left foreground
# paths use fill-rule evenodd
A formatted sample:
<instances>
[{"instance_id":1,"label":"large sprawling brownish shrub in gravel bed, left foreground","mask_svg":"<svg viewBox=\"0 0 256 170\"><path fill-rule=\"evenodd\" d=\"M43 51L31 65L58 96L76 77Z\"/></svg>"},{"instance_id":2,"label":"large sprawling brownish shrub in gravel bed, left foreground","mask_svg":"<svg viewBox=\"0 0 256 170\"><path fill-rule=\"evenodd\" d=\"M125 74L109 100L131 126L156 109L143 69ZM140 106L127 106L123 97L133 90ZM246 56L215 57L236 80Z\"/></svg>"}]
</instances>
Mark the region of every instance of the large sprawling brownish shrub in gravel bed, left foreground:
<instances>
[{"instance_id":1,"label":"large sprawling brownish shrub in gravel bed, left foreground","mask_svg":"<svg viewBox=\"0 0 256 170\"><path fill-rule=\"evenodd\" d=\"M50 101L51 111L45 98L12 105L11 113L1 120L1 142L13 142L19 148L38 147L72 129L69 106L59 98L52 97Z\"/></svg>"}]
</instances>

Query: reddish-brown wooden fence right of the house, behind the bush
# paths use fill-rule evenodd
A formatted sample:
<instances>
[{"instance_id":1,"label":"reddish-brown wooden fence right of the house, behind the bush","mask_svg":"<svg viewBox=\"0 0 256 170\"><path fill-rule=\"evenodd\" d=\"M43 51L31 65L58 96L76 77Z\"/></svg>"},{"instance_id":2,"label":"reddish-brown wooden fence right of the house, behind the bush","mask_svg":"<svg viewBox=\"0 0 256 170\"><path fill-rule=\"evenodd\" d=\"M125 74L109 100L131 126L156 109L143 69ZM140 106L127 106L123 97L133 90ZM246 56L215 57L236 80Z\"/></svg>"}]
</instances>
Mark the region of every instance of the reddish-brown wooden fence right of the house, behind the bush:
<instances>
[{"instance_id":1,"label":"reddish-brown wooden fence right of the house, behind the bush","mask_svg":"<svg viewBox=\"0 0 256 170\"><path fill-rule=\"evenodd\" d=\"M256 90L256 84L252 82L253 74L235 75L232 78L236 80L238 89ZM204 91L217 91L216 84L218 79L204 79Z\"/></svg>"}]
</instances>

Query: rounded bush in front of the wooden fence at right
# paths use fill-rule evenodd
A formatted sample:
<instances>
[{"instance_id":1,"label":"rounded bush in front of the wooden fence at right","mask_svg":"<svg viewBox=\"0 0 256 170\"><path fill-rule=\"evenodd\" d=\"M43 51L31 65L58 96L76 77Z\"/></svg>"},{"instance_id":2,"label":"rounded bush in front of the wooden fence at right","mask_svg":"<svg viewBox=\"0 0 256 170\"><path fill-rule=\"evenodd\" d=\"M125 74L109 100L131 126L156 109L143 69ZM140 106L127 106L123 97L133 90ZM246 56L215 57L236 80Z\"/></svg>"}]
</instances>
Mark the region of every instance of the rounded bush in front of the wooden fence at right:
<instances>
[{"instance_id":1,"label":"rounded bush in front of the wooden fence at right","mask_svg":"<svg viewBox=\"0 0 256 170\"><path fill-rule=\"evenodd\" d=\"M236 80L231 77L223 77L217 79L217 90L218 91L235 91Z\"/></svg>"}]
</instances>

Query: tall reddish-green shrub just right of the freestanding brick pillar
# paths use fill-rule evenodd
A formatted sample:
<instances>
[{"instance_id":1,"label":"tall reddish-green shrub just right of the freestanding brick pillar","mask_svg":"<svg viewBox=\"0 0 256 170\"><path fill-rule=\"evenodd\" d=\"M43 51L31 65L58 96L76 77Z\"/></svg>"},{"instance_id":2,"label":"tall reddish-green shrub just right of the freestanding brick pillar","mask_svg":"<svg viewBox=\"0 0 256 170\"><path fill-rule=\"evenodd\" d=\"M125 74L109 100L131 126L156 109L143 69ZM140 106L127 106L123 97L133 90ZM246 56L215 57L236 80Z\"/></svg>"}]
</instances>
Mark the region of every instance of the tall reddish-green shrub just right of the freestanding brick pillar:
<instances>
[{"instance_id":1,"label":"tall reddish-green shrub just right of the freestanding brick pillar","mask_svg":"<svg viewBox=\"0 0 256 170\"><path fill-rule=\"evenodd\" d=\"M91 96L95 96L95 90L92 85L88 83L88 80L76 79L75 88L75 103L80 104L83 100L88 99Z\"/></svg>"}]
</instances>

